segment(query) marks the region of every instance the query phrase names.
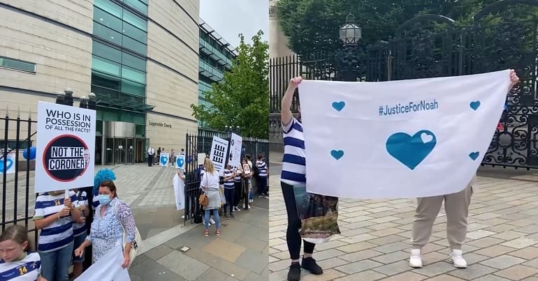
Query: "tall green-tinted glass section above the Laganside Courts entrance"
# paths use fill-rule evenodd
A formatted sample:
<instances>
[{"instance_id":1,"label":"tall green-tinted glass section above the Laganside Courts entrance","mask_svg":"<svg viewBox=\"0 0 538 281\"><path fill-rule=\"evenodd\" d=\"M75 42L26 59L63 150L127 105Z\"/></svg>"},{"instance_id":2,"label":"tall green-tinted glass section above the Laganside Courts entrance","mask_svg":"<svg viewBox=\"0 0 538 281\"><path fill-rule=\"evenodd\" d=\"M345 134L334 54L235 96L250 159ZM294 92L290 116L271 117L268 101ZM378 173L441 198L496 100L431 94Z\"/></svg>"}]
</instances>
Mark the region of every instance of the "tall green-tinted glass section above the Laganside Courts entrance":
<instances>
[{"instance_id":1,"label":"tall green-tinted glass section above the Laganside Courts entrance","mask_svg":"<svg viewBox=\"0 0 538 281\"><path fill-rule=\"evenodd\" d=\"M98 121L137 124L145 135L147 0L94 0L92 92Z\"/></svg>"}]
</instances>

